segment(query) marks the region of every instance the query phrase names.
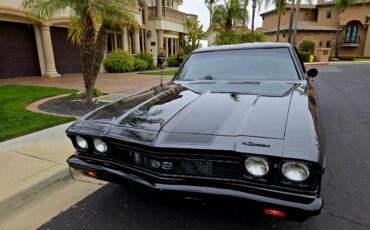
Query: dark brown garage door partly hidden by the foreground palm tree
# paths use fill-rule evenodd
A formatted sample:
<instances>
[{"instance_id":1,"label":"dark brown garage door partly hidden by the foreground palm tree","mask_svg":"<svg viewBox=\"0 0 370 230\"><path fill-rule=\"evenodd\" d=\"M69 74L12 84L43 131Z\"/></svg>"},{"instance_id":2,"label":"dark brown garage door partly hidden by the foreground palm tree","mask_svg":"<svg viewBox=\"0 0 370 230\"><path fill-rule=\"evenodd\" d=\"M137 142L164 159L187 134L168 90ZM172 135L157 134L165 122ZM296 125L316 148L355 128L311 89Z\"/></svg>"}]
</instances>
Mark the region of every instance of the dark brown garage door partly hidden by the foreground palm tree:
<instances>
[{"instance_id":1,"label":"dark brown garage door partly hidden by the foreground palm tree","mask_svg":"<svg viewBox=\"0 0 370 230\"><path fill-rule=\"evenodd\" d=\"M55 66L58 73L80 73L80 51L77 46L68 41L66 28L51 27L51 41L53 43Z\"/></svg>"}]
</instances>

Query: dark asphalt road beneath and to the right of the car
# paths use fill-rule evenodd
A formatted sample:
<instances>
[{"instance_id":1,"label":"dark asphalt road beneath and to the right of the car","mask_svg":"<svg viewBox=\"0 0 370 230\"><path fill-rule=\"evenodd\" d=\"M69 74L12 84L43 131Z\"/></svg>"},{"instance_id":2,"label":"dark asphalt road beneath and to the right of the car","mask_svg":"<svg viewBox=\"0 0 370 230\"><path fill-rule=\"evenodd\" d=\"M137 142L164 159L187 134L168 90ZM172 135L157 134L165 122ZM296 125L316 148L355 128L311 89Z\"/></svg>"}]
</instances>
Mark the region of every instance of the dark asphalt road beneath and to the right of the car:
<instances>
[{"instance_id":1,"label":"dark asphalt road beneath and to the right of the car","mask_svg":"<svg viewBox=\"0 0 370 230\"><path fill-rule=\"evenodd\" d=\"M320 67L327 163L319 216L291 222L241 202L194 201L108 184L40 229L370 229L370 65Z\"/></svg>"}]
</instances>

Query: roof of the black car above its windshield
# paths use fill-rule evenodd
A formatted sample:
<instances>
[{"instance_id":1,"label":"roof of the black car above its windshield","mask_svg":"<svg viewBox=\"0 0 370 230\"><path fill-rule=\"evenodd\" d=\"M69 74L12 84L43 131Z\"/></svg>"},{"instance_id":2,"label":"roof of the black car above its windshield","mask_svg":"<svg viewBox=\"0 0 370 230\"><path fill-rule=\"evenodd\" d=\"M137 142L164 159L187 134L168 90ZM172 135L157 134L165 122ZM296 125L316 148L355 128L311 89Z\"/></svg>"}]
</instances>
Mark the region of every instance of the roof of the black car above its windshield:
<instances>
[{"instance_id":1,"label":"roof of the black car above its windshield","mask_svg":"<svg viewBox=\"0 0 370 230\"><path fill-rule=\"evenodd\" d=\"M237 45L223 45L211 46L194 50L193 53L212 52L212 51L225 51L225 50L240 50L240 49L267 49L267 48L290 48L289 43L282 42L252 42Z\"/></svg>"}]
</instances>

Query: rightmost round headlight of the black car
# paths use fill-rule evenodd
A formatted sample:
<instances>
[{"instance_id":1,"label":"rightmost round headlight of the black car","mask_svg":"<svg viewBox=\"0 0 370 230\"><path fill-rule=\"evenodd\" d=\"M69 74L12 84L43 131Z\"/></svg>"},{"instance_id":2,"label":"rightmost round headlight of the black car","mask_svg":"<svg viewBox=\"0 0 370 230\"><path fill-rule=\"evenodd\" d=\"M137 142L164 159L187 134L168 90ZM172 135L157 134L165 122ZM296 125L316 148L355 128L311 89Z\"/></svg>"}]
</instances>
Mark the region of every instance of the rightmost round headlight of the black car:
<instances>
[{"instance_id":1,"label":"rightmost round headlight of the black car","mask_svg":"<svg viewBox=\"0 0 370 230\"><path fill-rule=\"evenodd\" d=\"M308 166L298 162L286 162L281 167L283 175L291 181L302 182L310 175Z\"/></svg>"}]
</instances>

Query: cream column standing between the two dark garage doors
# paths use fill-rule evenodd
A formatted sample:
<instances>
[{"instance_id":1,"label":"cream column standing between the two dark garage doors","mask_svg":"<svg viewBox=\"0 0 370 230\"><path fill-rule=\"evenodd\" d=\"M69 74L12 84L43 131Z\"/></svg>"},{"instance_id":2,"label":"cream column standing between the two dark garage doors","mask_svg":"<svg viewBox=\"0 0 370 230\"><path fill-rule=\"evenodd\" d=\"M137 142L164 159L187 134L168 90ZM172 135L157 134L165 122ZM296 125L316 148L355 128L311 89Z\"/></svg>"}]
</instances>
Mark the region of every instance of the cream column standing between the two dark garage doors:
<instances>
[{"instance_id":1,"label":"cream column standing between the two dark garage doors","mask_svg":"<svg viewBox=\"0 0 370 230\"><path fill-rule=\"evenodd\" d=\"M51 42L50 26L41 25L41 42L45 61L45 77L60 77L55 67L53 44Z\"/></svg>"}]
</instances>

